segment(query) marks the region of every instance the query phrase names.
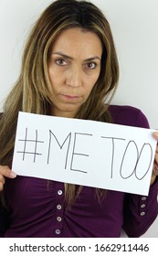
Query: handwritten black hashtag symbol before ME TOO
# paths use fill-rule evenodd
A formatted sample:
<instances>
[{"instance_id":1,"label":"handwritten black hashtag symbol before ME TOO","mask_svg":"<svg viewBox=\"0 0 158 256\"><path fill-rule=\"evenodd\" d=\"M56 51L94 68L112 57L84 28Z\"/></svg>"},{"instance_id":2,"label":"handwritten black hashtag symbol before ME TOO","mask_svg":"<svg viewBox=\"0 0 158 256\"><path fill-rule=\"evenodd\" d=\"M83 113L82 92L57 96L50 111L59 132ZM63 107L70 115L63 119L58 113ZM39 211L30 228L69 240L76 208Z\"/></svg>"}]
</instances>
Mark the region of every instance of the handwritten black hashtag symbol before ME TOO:
<instances>
[{"instance_id":1,"label":"handwritten black hashtag symbol before ME TOO","mask_svg":"<svg viewBox=\"0 0 158 256\"><path fill-rule=\"evenodd\" d=\"M25 156L26 155L33 155L33 161L34 163L36 162L36 157L37 155L42 155L40 153L37 153L37 144L42 144L44 142L42 141L38 141L37 140L37 130L36 130L36 133L35 133L35 140L28 140L27 139L27 128L26 128L26 134L25 134L25 139L19 139L18 140L19 142L24 142L24 148L23 148L23 151L17 151L17 153L20 153L23 155L23 161L25 160ZM32 146L32 150L31 151L27 151L26 150L26 146L27 144L31 144Z\"/></svg>"}]
</instances>

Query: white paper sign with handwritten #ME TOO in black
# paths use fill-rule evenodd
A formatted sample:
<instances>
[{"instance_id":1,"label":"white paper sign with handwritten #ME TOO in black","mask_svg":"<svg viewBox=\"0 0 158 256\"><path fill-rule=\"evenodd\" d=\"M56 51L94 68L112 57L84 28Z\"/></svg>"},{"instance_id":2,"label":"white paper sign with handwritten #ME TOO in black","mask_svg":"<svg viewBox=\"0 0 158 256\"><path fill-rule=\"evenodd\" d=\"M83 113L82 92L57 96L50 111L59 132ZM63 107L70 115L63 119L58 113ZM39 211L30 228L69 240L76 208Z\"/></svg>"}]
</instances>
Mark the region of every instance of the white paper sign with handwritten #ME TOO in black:
<instances>
[{"instance_id":1,"label":"white paper sign with handwritten #ME TOO in black","mask_svg":"<svg viewBox=\"0 0 158 256\"><path fill-rule=\"evenodd\" d=\"M150 129L19 112L12 169L147 196L155 147Z\"/></svg>"}]
</instances>

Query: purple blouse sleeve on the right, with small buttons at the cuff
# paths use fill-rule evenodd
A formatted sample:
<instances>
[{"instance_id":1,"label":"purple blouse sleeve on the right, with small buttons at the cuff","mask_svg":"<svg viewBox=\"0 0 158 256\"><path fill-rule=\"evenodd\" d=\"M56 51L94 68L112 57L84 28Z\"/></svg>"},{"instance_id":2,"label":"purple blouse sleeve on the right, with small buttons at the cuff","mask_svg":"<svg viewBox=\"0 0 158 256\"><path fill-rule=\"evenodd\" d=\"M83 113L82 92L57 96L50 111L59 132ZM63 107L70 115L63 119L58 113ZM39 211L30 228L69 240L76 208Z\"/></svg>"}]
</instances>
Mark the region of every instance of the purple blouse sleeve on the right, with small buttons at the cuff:
<instances>
[{"instance_id":1,"label":"purple blouse sleeve on the right, with small buttons at the cuff","mask_svg":"<svg viewBox=\"0 0 158 256\"><path fill-rule=\"evenodd\" d=\"M137 126L149 128L149 123L142 112L138 114ZM149 195L140 196L127 194L124 204L124 224L128 237L140 237L153 224L158 216L158 178L154 185L150 187Z\"/></svg>"}]
</instances>

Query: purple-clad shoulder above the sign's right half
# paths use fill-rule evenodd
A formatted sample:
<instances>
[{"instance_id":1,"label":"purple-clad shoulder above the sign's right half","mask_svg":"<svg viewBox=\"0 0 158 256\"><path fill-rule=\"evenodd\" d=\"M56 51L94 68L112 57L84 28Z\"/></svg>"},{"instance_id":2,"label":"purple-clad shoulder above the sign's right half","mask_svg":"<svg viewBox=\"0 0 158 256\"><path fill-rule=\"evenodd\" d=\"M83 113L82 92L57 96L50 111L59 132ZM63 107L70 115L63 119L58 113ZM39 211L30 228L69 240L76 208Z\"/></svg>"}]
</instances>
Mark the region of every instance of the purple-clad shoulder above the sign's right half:
<instances>
[{"instance_id":1,"label":"purple-clad shoulder above the sign's right half","mask_svg":"<svg viewBox=\"0 0 158 256\"><path fill-rule=\"evenodd\" d=\"M111 105L109 111L113 123L149 128L146 116L138 108L124 105Z\"/></svg>"}]
</instances>

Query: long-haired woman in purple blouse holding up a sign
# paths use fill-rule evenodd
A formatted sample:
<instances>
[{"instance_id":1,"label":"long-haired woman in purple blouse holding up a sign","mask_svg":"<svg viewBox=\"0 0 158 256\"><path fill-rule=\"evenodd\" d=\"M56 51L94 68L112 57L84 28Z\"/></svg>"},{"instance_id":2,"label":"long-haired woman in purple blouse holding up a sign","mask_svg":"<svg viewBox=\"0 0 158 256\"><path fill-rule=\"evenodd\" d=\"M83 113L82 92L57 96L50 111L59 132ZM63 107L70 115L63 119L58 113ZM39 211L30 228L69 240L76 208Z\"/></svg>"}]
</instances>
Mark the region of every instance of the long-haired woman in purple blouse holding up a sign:
<instances>
[{"instance_id":1,"label":"long-haired woman in purple blouse holding up a sign","mask_svg":"<svg viewBox=\"0 0 158 256\"><path fill-rule=\"evenodd\" d=\"M120 237L121 228L139 237L149 229L158 213L157 153L149 197L10 170L19 111L148 128L141 111L110 106L118 79L111 27L100 9L76 0L49 5L27 40L0 120L2 237Z\"/></svg>"}]
</instances>

